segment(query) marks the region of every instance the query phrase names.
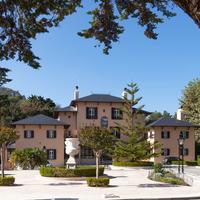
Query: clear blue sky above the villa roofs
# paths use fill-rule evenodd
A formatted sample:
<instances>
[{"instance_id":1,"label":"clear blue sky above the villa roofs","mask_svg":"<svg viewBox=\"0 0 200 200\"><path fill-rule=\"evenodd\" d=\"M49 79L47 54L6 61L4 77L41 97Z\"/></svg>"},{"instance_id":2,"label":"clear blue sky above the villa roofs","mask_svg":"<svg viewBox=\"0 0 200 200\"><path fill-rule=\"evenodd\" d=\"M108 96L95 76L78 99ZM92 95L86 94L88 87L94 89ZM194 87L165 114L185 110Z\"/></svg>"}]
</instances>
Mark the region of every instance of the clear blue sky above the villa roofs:
<instances>
[{"instance_id":1,"label":"clear blue sky above the villa roofs","mask_svg":"<svg viewBox=\"0 0 200 200\"><path fill-rule=\"evenodd\" d=\"M158 28L159 38L149 40L134 21L125 23L125 33L106 56L96 41L85 40L77 32L88 26L83 11L66 18L56 29L41 34L33 49L42 68L33 70L24 63L4 62L13 81L7 87L21 94L52 98L61 106L73 98L75 85L80 95L110 93L120 96L127 83L140 88L142 104L149 111L172 114L187 83L200 76L200 30L182 11Z\"/></svg>"}]
</instances>

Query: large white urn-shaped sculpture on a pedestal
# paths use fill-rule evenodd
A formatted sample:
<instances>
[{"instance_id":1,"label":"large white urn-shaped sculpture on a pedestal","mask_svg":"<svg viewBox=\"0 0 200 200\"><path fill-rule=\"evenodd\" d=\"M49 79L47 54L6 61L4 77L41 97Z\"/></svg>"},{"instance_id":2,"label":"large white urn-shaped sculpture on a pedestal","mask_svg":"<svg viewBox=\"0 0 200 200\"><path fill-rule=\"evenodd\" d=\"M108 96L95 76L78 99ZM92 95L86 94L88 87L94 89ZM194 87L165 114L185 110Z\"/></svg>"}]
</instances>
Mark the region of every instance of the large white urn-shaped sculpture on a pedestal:
<instances>
[{"instance_id":1,"label":"large white urn-shaped sculpture on a pedestal","mask_svg":"<svg viewBox=\"0 0 200 200\"><path fill-rule=\"evenodd\" d=\"M75 155L77 155L80 151L80 142L78 138L66 138L65 139L65 153L69 155L69 159L66 162L67 168L76 168L76 159Z\"/></svg>"}]
</instances>

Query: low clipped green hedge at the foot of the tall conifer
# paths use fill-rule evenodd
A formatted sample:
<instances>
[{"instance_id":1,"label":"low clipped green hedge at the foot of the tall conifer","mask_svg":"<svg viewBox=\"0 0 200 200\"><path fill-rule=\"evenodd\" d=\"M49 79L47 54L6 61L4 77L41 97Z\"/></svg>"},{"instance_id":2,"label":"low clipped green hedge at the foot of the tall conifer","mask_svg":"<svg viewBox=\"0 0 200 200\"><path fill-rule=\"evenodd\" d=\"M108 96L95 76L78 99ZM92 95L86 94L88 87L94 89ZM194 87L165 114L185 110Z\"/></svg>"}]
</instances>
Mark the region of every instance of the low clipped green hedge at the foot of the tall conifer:
<instances>
[{"instance_id":1,"label":"low clipped green hedge at the foot of the tall conifer","mask_svg":"<svg viewBox=\"0 0 200 200\"><path fill-rule=\"evenodd\" d=\"M150 161L135 161L135 162L113 162L114 166L121 167L145 167L145 166L153 166L153 162Z\"/></svg>"}]
</instances>

